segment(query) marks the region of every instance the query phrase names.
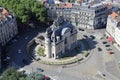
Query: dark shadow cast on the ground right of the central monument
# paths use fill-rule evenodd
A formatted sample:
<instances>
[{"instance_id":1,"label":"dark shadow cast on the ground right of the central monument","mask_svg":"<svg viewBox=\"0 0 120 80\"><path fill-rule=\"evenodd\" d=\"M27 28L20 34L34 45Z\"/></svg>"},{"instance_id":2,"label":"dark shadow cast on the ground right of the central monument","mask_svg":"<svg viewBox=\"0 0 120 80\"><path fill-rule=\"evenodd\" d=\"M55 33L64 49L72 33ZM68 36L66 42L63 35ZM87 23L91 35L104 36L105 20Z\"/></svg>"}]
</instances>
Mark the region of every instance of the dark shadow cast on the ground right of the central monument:
<instances>
[{"instance_id":1,"label":"dark shadow cast on the ground right of the central monument","mask_svg":"<svg viewBox=\"0 0 120 80\"><path fill-rule=\"evenodd\" d=\"M90 51L96 47L96 44L97 42L93 37L84 37L79 39L77 40L77 46L73 50L65 52L62 58L74 57L76 55Z\"/></svg>"}]
</instances>

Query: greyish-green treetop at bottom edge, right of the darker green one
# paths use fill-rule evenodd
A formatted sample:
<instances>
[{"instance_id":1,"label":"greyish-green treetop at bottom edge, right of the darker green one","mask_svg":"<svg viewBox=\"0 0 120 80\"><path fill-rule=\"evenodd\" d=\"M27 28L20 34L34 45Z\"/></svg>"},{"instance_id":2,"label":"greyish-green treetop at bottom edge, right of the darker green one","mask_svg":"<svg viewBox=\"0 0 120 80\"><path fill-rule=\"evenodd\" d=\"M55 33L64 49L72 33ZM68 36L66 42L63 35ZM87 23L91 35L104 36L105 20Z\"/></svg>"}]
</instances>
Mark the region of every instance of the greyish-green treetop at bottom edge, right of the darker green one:
<instances>
[{"instance_id":1,"label":"greyish-green treetop at bottom edge, right of the darker green one","mask_svg":"<svg viewBox=\"0 0 120 80\"><path fill-rule=\"evenodd\" d=\"M40 74L38 72L33 72L28 75L26 80L45 80L45 76L43 74Z\"/></svg>"}]
</instances>

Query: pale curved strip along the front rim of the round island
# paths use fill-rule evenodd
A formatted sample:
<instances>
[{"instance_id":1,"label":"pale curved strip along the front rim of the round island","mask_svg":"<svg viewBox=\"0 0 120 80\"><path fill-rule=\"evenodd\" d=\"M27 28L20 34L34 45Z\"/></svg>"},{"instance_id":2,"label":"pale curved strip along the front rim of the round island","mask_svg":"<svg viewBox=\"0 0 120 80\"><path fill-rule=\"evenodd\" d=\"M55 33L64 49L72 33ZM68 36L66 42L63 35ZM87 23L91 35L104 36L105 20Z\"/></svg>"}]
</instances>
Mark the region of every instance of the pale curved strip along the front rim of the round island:
<instances>
[{"instance_id":1,"label":"pale curved strip along the front rim of the round island","mask_svg":"<svg viewBox=\"0 0 120 80\"><path fill-rule=\"evenodd\" d=\"M83 63L89 58L89 56L90 56L90 53L87 52L66 60L49 60L49 59L46 60L44 58L41 58L39 62L47 65L68 65L76 62Z\"/></svg>"}]
</instances>

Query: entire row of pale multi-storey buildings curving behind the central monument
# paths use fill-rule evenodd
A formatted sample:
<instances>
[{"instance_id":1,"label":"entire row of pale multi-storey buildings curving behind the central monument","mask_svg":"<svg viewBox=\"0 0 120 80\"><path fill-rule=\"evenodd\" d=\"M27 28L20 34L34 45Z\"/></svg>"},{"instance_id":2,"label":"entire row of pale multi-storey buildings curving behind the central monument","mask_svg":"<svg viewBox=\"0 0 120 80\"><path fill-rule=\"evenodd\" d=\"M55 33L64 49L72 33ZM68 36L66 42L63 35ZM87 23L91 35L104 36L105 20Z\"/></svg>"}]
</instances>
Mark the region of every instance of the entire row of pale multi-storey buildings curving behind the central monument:
<instances>
[{"instance_id":1,"label":"entire row of pale multi-storey buildings curving behind the central monument","mask_svg":"<svg viewBox=\"0 0 120 80\"><path fill-rule=\"evenodd\" d=\"M98 29L105 27L107 23L107 7L102 3L48 4L46 8L51 20L63 16L65 20L71 21L77 28Z\"/></svg>"}]
</instances>

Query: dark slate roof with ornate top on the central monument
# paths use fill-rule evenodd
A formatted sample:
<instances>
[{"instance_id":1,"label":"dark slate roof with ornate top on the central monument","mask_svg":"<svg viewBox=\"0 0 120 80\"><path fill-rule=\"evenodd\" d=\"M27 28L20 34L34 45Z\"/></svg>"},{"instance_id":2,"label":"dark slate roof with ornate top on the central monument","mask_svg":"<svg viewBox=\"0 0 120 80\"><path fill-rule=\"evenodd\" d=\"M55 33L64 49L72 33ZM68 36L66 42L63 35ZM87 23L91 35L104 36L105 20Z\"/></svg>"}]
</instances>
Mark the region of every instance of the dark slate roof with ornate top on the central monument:
<instances>
[{"instance_id":1,"label":"dark slate roof with ornate top on the central monument","mask_svg":"<svg viewBox=\"0 0 120 80\"><path fill-rule=\"evenodd\" d=\"M62 35L67 31L70 30L71 33L75 30L75 26L73 26L69 21L64 21L62 17L57 18L54 21L53 25L51 25L46 30L46 36L51 39L51 41L57 41L57 37L62 39Z\"/></svg>"}]
</instances>

